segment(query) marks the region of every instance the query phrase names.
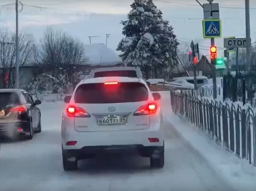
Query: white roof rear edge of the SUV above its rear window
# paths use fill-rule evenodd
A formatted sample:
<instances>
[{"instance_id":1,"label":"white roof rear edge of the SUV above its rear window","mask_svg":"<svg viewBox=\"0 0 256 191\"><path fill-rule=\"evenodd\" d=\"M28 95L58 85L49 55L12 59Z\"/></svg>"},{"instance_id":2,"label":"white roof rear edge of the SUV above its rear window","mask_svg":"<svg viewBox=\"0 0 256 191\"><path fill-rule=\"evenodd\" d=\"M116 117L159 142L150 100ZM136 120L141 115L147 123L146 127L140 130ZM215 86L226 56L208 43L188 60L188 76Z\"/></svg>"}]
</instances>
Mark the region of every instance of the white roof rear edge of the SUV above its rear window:
<instances>
[{"instance_id":1,"label":"white roof rear edge of the SUV above its rear window","mask_svg":"<svg viewBox=\"0 0 256 191\"><path fill-rule=\"evenodd\" d=\"M104 82L140 82L146 84L144 80L136 77L121 77L121 76L111 76L111 77L97 77L88 78L81 81L82 83L104 83Z\"/></svg>"}]
</instances>

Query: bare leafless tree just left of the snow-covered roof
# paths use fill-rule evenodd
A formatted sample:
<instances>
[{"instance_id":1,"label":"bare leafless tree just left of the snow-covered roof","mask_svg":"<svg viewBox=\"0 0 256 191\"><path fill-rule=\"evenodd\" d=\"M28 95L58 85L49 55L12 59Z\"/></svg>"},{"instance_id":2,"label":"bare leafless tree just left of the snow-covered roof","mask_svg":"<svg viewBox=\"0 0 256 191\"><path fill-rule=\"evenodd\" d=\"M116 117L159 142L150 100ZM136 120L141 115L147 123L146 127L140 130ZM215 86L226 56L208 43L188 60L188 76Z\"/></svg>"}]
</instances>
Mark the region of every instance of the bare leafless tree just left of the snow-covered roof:
<instances>
[{"instance_id":1,"label":"bare leafless tree just left of the snow-covered roof","mask_svg":"<svg viewBox=\"0 0 256 191\"><path fill-rule=\"evenodd\" d=\"M83 43L66 33L48 28L40 46L37 60L47 72L56 78L65 76L66 81L73 83L77 66L87 61Z\"/></svg>"}]
</instances>

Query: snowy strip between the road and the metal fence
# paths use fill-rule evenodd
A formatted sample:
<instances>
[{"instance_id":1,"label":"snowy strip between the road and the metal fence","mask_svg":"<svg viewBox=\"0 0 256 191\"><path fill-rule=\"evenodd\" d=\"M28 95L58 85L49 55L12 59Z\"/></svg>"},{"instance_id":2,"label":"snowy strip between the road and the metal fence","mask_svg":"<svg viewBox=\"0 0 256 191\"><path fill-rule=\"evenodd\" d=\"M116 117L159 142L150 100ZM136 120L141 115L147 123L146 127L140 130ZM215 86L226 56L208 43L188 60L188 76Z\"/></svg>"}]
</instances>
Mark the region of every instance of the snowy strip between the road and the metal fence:
<instances>
[{"instance_id":1,"label":"snowy strip between the road and the metal fence","mask_svg":"<svg viewBox=\"0 0 256 191\"><path fill-rule=\"evenodd\" d=\"M173 113L165 116L182 138L189 142L210 165L219 172L237 191L256 190L256 167L249 165L247 160L237 158L233 153L224 150L221 146L210 140L206 134L183 121Z\"/></svg>"}]
</instances>

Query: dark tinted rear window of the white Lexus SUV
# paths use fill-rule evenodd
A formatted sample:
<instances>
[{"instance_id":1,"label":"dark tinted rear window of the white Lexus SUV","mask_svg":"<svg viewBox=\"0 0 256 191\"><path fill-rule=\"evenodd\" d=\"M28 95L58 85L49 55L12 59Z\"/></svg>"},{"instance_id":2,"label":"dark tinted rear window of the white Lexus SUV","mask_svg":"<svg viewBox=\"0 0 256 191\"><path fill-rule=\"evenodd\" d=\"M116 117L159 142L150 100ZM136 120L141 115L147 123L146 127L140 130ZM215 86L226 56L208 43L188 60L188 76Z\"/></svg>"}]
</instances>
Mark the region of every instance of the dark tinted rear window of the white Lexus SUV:
<instances>
[{"instance_id":1,"label":"dark tinted rear window of the white Lexus SUV","mask_svg":"<svg viewBox=\"0 0 256 191\"><path fill-rule=\"evenodd\" d=\"M124 103L148 100L148 90L142 83L81 84L75 91L76 103Z\"/></svg>"}]
</instances>

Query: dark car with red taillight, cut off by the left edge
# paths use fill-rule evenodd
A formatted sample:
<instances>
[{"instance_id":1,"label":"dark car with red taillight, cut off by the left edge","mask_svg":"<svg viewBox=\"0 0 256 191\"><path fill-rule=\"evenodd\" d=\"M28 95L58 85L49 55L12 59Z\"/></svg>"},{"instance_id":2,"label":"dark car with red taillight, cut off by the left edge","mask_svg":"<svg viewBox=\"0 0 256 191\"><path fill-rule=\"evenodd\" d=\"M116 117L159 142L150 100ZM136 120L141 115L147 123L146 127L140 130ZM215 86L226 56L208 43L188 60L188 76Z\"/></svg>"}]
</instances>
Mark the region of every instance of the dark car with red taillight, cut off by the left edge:
<instances>
[{"instance_id":1,"label":"dark car with red taillight, cut off by the left edge","mask_svg":"<svg viewBox=\"0 0 256 191\"><path fill-rule=\"evenodd\" d=\"M39 104L23 89L0 89L0 136L33 139L41 132Z\"/></svg>"}]
</instances>

